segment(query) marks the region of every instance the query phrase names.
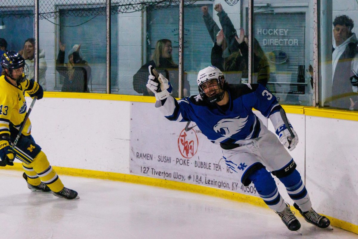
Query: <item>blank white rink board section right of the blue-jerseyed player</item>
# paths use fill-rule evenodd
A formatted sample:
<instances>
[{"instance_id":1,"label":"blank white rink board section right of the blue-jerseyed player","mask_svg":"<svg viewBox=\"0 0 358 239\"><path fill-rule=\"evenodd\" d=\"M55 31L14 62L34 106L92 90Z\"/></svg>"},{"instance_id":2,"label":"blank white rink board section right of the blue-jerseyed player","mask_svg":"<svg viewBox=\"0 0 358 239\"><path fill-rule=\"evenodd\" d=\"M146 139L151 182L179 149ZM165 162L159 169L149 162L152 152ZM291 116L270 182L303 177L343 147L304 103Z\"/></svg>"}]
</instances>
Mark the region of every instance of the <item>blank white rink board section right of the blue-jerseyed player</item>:
<instances>
[{"instance_id":1,"label":"blank white rink board section right of the blue-jerseyed player","mask_svg":"<svg viewBox=\"0 0 358 239\"><path fill-rule=\"evenodd\" d=\"M306 186L318 211L358 225L358 121L306 116Z\"/></svg>"}]
</instances>

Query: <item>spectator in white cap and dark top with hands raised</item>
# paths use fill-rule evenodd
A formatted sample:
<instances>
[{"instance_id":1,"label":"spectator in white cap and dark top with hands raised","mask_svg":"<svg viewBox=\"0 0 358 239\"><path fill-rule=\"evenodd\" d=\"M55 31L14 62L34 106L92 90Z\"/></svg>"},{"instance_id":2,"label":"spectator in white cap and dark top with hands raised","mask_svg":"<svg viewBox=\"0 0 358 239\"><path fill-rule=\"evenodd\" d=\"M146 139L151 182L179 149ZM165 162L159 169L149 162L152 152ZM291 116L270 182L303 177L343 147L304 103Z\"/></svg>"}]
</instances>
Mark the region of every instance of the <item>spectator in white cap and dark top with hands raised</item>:
<instances>
[{"instance_id":1,"label":"spectator in white cap and dark top with hands raised","mask_svg":"<svg viewBox=\"0 0 358 239\"><path fill-rule=\"evenodd\" d=\"M88 82L91 78L91 67L82 58L81 44L74 45L68 54L68 63L64 63L66 45L59 41L60 51L57 55L56 70L63 79L63 92L89 92Z\"/></svg>"}]
</instances>

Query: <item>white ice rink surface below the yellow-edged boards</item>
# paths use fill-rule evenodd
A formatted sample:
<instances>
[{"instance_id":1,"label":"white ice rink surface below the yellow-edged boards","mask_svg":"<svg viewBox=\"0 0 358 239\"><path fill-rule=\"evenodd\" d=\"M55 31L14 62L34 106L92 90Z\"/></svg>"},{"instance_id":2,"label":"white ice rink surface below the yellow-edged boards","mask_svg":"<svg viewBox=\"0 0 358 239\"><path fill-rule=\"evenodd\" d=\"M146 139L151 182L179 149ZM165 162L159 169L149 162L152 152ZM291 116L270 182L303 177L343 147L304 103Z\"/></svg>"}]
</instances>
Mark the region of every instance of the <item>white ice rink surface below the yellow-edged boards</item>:
<instances>
[{"instance_id":1,"label":"white ice rink surface below the yellow-edged boards","mask_svg":"<svg viewBox=\"0 0 358 239\"><path fill-rule=\"evenodd\" d=\"M1 239L348 239L301 216L303 235L270 209L246 203L110 180L61 176L78 200L31 192L21 171L1 170Z\"/></svg>"}]
</instances>

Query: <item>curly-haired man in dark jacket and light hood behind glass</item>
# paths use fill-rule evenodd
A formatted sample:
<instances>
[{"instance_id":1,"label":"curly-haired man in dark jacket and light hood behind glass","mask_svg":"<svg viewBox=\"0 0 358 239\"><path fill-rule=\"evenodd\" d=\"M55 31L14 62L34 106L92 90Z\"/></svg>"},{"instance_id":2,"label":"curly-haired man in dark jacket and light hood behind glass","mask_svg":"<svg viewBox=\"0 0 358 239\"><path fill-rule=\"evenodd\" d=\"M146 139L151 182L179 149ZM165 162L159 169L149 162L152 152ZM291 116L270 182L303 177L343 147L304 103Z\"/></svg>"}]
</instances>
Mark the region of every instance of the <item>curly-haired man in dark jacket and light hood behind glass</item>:
<instances>
[{"instance_id":1,"label":"curly-haired man in dark jacket and light hood behind glass","mask_svg":"<svg viewBox=\"0 0 358 239\"><path fill-rule=\"evenodd\" d=\"M333 21L334 44L332 48L332 102L330 106L358 110L357 37L352 33L353 20L347 15L337 16ZM354 92L354 93L353 93ZM348 94L348 95L347 95Z\"/></svg>"}]
</instances>

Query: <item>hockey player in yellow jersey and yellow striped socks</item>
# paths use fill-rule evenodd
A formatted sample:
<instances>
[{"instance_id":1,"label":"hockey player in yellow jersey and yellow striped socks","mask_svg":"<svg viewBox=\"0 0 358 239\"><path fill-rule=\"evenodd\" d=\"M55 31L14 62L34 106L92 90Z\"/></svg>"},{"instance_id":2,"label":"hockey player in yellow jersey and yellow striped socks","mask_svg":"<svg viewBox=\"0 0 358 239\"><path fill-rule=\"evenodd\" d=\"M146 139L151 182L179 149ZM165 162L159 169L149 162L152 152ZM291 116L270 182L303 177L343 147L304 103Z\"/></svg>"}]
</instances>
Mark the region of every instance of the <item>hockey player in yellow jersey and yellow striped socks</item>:
<instances>
[{"instance_id":1,"label":"hockey player in yellow jersey and yellow striped socks","mask_svg":"<svg viewBox=\"0 0 358 239\"><path fill-rule=\"evenodd\" d=\"M52 191L55 196L65 199L79 198L76 191L63 186L41 147L35 143L30 119L26 120L15 152L11 150L26 115L25 92L39 100L43 97L43 89L33 79L27 79L28 66L19 53L6 51L0 61L3 67L0 76L0 166L13 165L15 156L22 161L23 177L30 190Z\"/></svg>"}]
</instances>

